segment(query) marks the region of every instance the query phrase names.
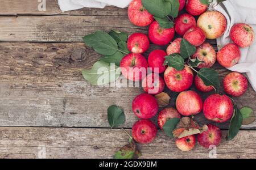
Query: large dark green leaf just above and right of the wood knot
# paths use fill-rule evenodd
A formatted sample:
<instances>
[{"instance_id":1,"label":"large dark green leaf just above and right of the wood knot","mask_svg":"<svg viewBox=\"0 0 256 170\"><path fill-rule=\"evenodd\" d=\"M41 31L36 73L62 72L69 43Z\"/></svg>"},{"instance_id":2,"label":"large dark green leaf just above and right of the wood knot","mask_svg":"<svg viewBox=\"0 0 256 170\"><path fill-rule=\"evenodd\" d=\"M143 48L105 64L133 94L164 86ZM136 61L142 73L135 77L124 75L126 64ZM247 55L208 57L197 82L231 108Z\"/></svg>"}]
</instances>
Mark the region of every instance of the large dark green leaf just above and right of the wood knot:
<instances>
[{"instance_id":1,"label":"large dark green leaf just above and right of the wood knot","mask_svg":"<svg viewBox=\"0 0 256 170\"><path fill-rule=\"evenodd\" d=\"M117 42L106 32L96 31L85 36L84 42L102 55L112 55L118 50Z\"/></svg>"}]
</instances>

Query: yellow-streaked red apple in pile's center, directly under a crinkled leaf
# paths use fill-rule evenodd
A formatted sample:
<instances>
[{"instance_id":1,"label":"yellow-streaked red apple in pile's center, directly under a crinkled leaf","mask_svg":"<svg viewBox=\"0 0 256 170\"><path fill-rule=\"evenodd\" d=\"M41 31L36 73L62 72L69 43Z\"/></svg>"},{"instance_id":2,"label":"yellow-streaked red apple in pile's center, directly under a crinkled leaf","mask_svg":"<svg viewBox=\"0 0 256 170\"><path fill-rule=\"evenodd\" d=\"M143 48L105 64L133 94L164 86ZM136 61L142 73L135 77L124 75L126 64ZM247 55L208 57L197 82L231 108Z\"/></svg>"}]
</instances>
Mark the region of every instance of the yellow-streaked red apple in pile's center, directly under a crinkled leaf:
<instances>
[{"instance_id":1,"label":"yellow-streaked red apple in pile's center, directly under a crinkled leaf","mask_svg":"<svg viewBox=\"0 0 256 170\"><path fill-rule=\"evenodd\" d=\"M171 91L181 92L188 90L193 83L193 71L185 66L183 70L176 70L174 67L167 67L164 72L164 81Z\"/></svg>"}]
</instances>

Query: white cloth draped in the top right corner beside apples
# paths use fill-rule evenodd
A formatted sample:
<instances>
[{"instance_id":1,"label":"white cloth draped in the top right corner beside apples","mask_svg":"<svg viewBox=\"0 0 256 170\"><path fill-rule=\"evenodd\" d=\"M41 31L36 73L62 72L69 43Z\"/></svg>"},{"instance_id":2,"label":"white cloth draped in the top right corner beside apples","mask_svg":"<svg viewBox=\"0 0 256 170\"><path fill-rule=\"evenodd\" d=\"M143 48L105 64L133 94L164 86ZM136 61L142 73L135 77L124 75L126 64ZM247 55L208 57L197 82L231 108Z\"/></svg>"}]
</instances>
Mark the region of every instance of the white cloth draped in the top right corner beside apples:
<instances>
[{"instance_id":1,"label":"white cloth draped in the top right corner beside apples","mask_svg":"<svg viewBox=\"0 0 256 170\"><path fill-rule=\"evenodd\" d=\"M218 48L232 42L229 32L235 23L246 23L256 32L256 1L255 0L227 0L223 4L214 7L225 15L228 28L224 35L217 39ZM251 86L256 91L256 40L248 48L241 49L241 59L238 64L228 68L232 71L246 73Z\"/></svg>"}]
</instances>

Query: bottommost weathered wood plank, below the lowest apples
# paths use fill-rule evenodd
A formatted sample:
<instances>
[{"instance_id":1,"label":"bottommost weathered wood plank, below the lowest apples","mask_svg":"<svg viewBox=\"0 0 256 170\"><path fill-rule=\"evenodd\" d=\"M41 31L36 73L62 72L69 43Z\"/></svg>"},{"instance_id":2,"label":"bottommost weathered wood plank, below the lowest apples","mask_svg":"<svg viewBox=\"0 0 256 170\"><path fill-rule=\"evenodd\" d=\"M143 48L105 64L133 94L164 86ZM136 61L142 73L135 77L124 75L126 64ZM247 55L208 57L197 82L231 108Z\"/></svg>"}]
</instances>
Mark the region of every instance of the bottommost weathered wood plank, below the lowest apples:
<instances>
[{"instance_id":1,"label":"bottommost weathered wood plank, below the lowest apples","mask_svg":"<svg viewBox=\"0 0 256 170\"><path fill-rule=\"evenodd\" d=\"M130 133L130 130L127 130ZM217 158L256 158L256 131L240 131L232 141L217 147ZM0 128L0 158L112 158L128 142L121 129L81 128ZM209 151L197 142L190 152L182 152L158 131L148 145L139 145L141 158L209 158Z\"/></svg>"}]
</instances>

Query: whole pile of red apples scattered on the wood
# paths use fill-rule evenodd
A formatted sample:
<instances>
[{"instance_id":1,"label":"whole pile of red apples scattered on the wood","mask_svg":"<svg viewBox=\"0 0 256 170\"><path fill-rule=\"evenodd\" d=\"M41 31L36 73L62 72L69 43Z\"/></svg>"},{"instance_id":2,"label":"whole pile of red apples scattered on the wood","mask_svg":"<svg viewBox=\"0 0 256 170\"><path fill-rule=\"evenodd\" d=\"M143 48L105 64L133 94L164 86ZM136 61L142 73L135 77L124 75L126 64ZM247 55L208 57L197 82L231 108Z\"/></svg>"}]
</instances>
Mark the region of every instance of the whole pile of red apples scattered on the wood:
<instances>
[{"instance_id":1,"label":"whole pile of red apples scattered on the wood","mask_svg":"<svg viewBox=\"0 0 256 170\"><path fill-rule=\"evenodd\" d=\"M214 122L226 122L233 115L233 102L227 95L213 94L203 102L196 91L187 91L193 82L195 82L195 87L199 91L209 92L214 90L212 86L205 86L199 76L196 75L194 79L191 68L185 66L183 70L178 71L173 67L164 65L165 56L180 53L181 38L172 41L175 32L196 46L196 53L191 58L204 61L198 66L200 69L212 67L216 60L224 67L236 65L241 57L240 48L250 46L254 41L254 31L250 25L237 23L230 31L230 38L234 43L225 45L216 53L213 46L205 40L217 39L224 34L227 27L225 16L218 11L207 11L208 6L202 4L200 0L179 0L179 2L179 11L185 7L188 13L180 14L174 20L174 28L161 28L154 17L142 6L141 0L132 1L128 8L131 23L140 27L149 25L148 37L143 33L133 33L129 36L127 47L131 53L123 57L120 64L123 76L133 81L142 80L143 89L146 92L135 97L132 104L134 114L141 118L141 120L135 122L132 128L133 138L139 143L150 143L156 137L157 127L149 119L154 117L159 109L154 95L163 92L165 85L171 91L180 92L180 94L176 99L176 109L164 108L160 111L158 115L160 129L170 118L181 118L181 115L191 116L200 113L202 110L205 118ZM194 16L199 16L197 21ZM154 50L146 59L142 56L142 53L149 48L150 41L156 45L168 45L166 52L159 49ZM129 67L138 69L149 67L153 73L144 76L142 74L136 75L129 70ZM154 74L161 73L164 73L164 79L159 76L159 79L155 80ZM156 86L159 90L154 94L148 94L148 90ZM233 72L225 76L223 86L226 94L241 96L246 92L247 79L242 74ZM197 139L201 146L207 148L210 145L217 146L221 142L221 130L217 126L209 124L208 130L198 134ZM176 139L175 143L180 150L189 151L195 146L196 137L191 135Z\"/></svg>"}]
</instances>

